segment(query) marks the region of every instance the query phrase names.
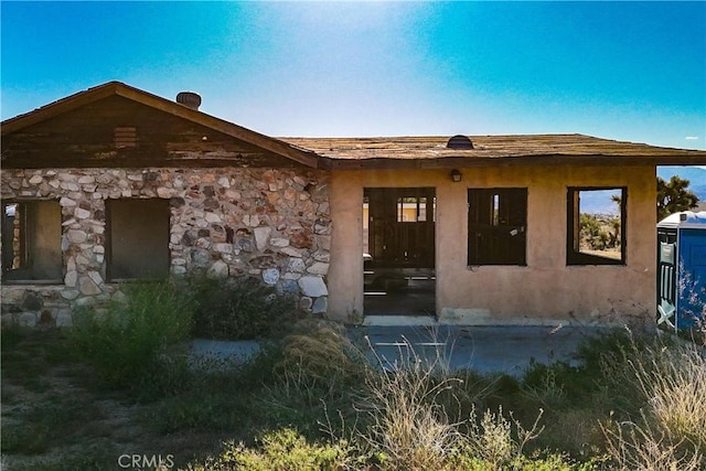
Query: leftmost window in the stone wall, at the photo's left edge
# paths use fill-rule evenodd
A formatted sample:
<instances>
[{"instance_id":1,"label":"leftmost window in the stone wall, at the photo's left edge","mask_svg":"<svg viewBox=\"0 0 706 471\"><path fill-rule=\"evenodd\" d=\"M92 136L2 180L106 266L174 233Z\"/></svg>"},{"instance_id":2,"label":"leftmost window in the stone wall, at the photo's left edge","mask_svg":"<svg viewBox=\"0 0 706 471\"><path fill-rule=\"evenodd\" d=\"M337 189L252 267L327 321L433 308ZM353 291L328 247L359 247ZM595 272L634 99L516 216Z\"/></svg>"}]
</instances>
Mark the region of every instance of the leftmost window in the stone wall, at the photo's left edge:
<instances>
[{"instance_id":1,"label":"leftmost window in the stone wall, at the photo's left edge","mask_svg":"<svg viewBox=\"0 0 706 471\"><path fill-rule=\"evenodd\" d=\"M2 204L2 278L61 281L62 210L56 201Z\"/></svg>"}]
</instances>

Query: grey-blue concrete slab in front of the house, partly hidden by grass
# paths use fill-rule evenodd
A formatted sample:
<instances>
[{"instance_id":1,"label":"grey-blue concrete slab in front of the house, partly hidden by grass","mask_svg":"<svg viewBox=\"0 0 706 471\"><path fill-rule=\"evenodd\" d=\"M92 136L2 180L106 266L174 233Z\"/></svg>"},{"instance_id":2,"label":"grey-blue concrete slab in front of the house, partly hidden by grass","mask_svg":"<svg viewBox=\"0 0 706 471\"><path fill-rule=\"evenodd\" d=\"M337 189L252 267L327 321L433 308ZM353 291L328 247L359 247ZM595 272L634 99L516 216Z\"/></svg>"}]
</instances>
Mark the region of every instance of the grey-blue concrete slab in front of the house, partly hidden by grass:
<instances>
[{"instance_id":1,"label":"grey-blue concrete slab in front of the house, partly hidden by grass","mask_svg":"<svg viewBox=\"0 0 706 471\"><path fill-rule=\"evenodd\" d=\"M481 374L505 373L522 376L534 361L552 364L573 358L588 336L605 333L599 327L350 327L347 335L384 368L396 368L409 361L438 361L450 370L470 368ZM368 346L370 345L370 346ZM243 363L259 352L255 341L191 342L193 358Z\"/></svg>"}]
</instances>

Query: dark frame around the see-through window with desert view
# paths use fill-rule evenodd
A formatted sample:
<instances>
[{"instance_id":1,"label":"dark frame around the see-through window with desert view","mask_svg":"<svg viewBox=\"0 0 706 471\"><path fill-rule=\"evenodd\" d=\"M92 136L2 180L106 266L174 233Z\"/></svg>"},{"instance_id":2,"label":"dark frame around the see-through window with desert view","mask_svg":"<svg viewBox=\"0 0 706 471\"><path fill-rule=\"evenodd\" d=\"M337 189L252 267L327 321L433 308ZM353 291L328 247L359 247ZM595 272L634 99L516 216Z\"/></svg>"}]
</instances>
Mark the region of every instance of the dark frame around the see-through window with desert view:
<instances>
[{"instance_id":1,"label":"dark frame around the see-through window with desert view","mask_svg":"<svg viewBox=\"0 0 706 471\"><path fill-rule=\"evenodd\" d=\"M620 259L601 257L580 251L580 192L589 191L620 191ZM628 265L628 186L567 186L566 192L566 265Z\"/></svg>"}]
</instances>

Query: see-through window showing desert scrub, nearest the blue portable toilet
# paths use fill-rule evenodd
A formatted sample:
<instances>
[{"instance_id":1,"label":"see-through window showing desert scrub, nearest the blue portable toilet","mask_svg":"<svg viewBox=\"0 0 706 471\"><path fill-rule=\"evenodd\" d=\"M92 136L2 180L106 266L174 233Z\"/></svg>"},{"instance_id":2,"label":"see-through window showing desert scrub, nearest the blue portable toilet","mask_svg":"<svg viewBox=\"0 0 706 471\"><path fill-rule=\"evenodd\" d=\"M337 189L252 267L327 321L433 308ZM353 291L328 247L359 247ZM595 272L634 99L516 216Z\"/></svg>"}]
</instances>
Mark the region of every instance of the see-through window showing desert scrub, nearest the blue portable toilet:
<instances>
[{"instance_id":1,"label":"see-through window showing desert scrub, nearest the blue portable toilet","mask_svg":"<svg viewBox=\"0 0 706 471\"><path fill-rule=\"evenodd\" d=\"M625 264L625 188L569 188L567 265Z\"/></svg>"}]
</instances>

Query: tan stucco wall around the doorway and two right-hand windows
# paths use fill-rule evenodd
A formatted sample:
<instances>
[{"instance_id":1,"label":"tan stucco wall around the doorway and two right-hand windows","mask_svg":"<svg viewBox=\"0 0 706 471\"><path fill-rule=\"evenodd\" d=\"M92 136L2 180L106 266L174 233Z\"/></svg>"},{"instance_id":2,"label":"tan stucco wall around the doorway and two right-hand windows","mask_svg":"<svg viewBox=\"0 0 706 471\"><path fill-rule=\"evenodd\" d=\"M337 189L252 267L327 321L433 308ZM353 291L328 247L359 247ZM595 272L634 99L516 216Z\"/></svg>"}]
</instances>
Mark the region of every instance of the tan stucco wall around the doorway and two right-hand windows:
<instances>
[{"instance_id":1,"label":"tan stucco wall around the doorway and two right-hand windows","mask_svg":"<svg viewBox=\"0 0 706 471\"><path fill-rule=\"evenodd\" d=\"M651 320L655 297L653 167L506 167L462 170L334 171L335 221L329 271L329 315L363 312L364 188L435 186L437 315L458 323L622 322ZM527 188L526 266L467 267L468 189ZM627 186L624 266L567 266L567 186Z\"/></svg>"}]
</instances>

